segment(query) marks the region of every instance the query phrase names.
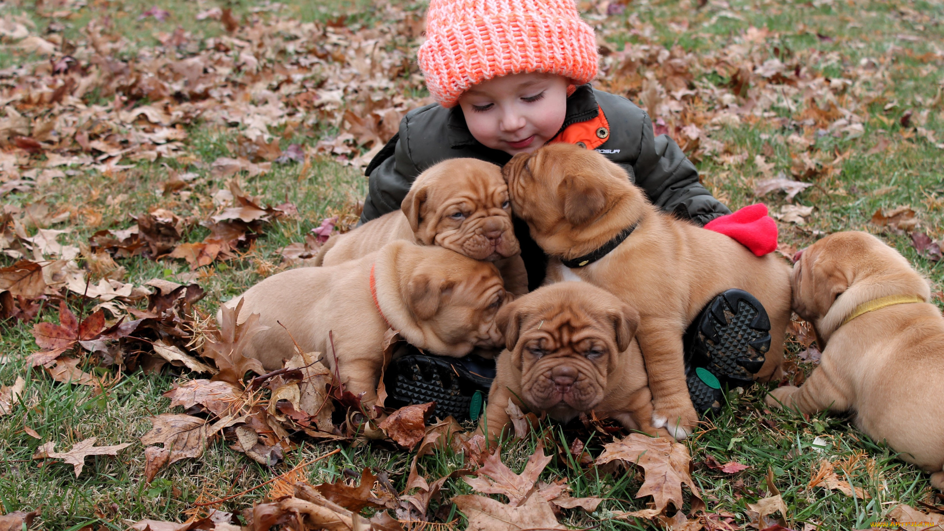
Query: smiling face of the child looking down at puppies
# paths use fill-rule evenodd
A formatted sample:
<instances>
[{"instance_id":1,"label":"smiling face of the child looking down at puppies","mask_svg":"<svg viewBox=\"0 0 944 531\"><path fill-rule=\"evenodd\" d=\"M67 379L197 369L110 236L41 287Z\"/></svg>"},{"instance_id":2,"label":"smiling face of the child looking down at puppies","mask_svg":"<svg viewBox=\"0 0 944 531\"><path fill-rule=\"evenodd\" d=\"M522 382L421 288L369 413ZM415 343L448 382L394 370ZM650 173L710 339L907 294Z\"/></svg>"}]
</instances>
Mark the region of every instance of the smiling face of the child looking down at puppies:
<instances>
[{"instance_id":1,"label":"smiling face of the child looking down at puppies","mask_svg":"<svg viewBox=\"0 0 944 531\"><path fill-rule=\"evenodd\" d=\"M459 105L482 145L531 153L564 124L568 84L566 77L538 72L493 77L465 91Z\"/></svg>"}]
</instances>

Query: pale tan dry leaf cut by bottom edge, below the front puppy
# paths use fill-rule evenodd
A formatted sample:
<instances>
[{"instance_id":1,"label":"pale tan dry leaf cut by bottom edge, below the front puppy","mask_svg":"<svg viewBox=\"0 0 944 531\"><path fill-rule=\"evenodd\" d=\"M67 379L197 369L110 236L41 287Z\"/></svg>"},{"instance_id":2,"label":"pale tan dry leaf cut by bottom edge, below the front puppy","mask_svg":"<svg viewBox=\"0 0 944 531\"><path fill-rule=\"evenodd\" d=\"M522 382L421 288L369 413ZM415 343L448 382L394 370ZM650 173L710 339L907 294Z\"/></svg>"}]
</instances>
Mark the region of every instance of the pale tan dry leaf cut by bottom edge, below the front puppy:
<instances>
[{"instance_id":1,"label":"pale tan dry leaf cut by bottom edge, below the front puppy","mask_svg":"<svg viewBox=\"0 0 944 531\"><path fill-rule=\"evenodd\" d=\"M505 505L491 498L466 494L452 501L468 518L468 531L550 531L566 527L557 522L554 509L541 496L532 495L520 506Z\"/></svg>"}]
</instances>

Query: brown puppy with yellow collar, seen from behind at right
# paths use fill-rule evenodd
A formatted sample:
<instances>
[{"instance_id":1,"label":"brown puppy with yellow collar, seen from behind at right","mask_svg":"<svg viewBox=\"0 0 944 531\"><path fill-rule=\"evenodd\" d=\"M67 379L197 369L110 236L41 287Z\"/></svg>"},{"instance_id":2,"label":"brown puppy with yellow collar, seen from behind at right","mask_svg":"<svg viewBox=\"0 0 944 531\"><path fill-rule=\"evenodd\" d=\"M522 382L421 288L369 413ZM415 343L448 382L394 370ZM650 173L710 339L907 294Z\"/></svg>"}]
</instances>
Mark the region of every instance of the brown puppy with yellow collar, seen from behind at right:
<instances>
[{"instance_id":1,"label":"brown puppy with yellow collar, seen from behind at right","mask_svg":"<svg viewBox=\"0 0 944 531\"><path fill-rule=\"evenodd\" d=\"M934 472L932 485L944 490L944 318L930 297L908 261L866 232L837 232L803 250L793 309L816 328L822 360L801 387L774 389L767 403L808 415L852 410L868 437Z\"/></svg>"}]
</instances>

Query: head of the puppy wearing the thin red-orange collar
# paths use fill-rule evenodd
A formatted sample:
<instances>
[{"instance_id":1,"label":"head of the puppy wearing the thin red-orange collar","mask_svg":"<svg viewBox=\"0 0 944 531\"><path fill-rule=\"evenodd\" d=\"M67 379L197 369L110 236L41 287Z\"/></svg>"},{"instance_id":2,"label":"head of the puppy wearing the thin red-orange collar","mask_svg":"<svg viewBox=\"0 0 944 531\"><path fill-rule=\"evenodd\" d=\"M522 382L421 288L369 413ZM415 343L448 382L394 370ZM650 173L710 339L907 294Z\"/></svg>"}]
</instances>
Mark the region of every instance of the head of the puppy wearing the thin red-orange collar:
<instances>
[{"instance_id":1,"label":"head of the puppy wearing the thin red-orange collar","mask_svg":"<svg viewBox=\"0 0 944 531\"><path fill-rule=\"evenodd\" d=\"M514 296L505 291L493 264L444 249L401 282L427 345L438 345L433 353L461 357L475 347L502 344L496 316Z\"/></svg>"}]
</instances>

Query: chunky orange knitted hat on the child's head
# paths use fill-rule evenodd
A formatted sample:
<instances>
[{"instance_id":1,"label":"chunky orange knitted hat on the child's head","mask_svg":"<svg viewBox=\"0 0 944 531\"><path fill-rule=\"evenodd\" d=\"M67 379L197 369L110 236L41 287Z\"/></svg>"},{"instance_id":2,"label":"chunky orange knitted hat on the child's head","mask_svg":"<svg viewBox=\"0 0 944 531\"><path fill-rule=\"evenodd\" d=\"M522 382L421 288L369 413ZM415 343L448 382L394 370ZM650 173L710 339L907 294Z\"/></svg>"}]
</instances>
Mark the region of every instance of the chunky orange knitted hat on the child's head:
<instances>
[{"instance_id":1,"label":"chunky orange knitted hat on the child's head","mask_svg":"<svg viewBox=\"0 0 944 531\"><path fill-rule=\"evenodd\" d=\"M546 72L582 85L597 76L597 41L574 0L430 0L426 36L419 66L443 107L492 77Z\"/></svg>"}]
</instances>

